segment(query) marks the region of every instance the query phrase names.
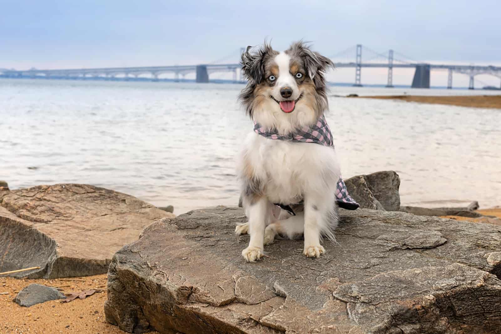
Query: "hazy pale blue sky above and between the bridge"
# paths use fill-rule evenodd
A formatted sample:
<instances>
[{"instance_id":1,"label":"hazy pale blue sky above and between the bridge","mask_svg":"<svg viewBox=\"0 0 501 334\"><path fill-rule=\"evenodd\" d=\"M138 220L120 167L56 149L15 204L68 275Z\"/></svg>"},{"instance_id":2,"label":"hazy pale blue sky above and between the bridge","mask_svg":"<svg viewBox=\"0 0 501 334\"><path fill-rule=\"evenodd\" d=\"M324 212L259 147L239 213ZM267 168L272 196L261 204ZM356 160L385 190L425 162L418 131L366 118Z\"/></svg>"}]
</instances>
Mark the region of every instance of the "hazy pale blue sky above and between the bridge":
<instances>
[{"instance_id":1,"label":"hazy pale blue sky above and between the bridge","mask_svg":"<svg viewBox=\"0 0 501 334\"><path fill-rule=\"evenodd\" d=\"M233 63L240 47L265 38L277 50L305 39L326 56L359 43L417 61L498 65L499 13L499 0L0 0L0 68L188 65L225 56ZM362 71L363 82L385 80L385 70ZM337 75L351 82L354 70ZM394 83L410 84L409 75L395 70ZM432 74L432 85L445 85L444 77ZM454 83L460 77L467 84L460 75Z\"/></svg>"}]
</instances>

